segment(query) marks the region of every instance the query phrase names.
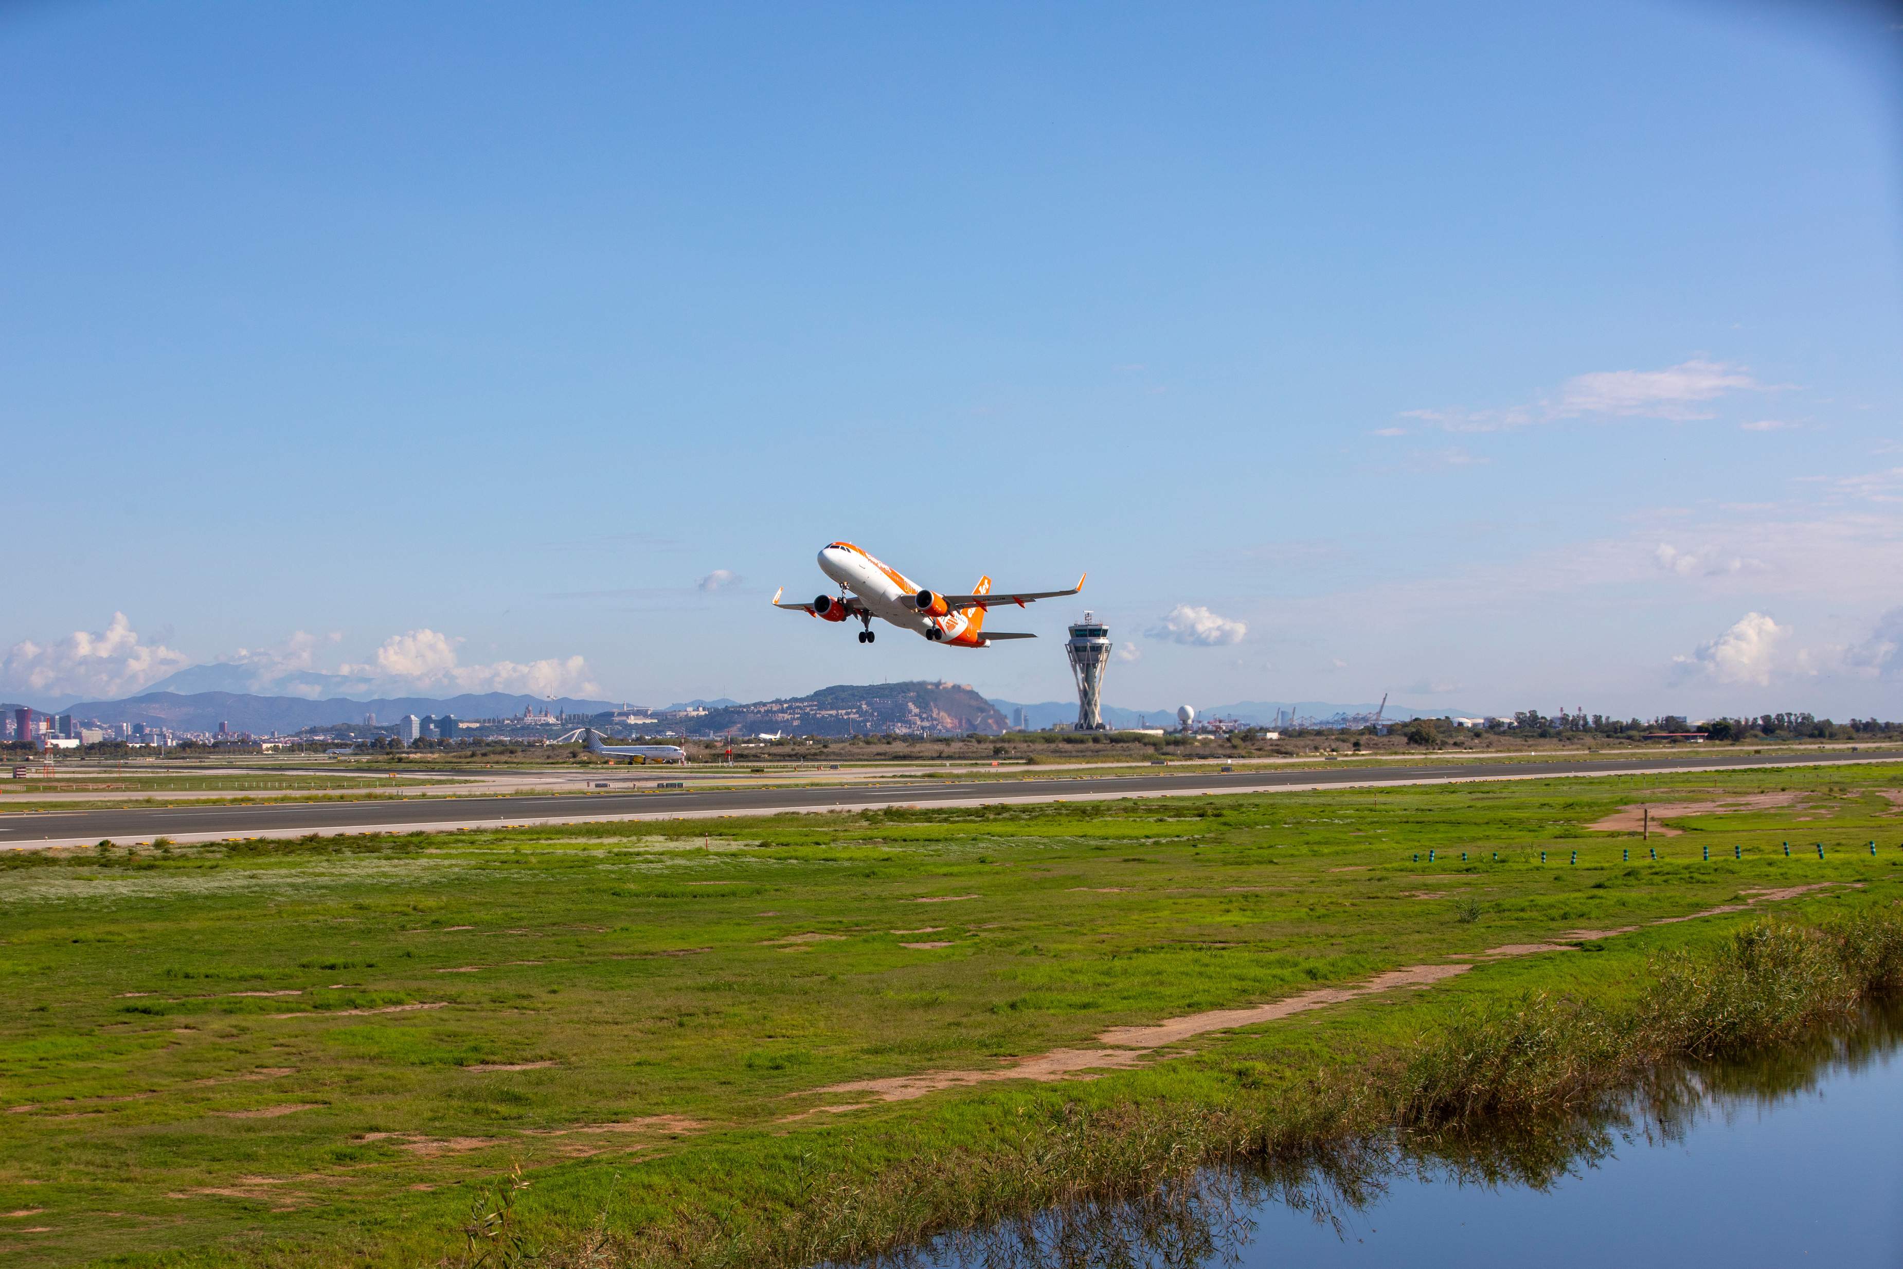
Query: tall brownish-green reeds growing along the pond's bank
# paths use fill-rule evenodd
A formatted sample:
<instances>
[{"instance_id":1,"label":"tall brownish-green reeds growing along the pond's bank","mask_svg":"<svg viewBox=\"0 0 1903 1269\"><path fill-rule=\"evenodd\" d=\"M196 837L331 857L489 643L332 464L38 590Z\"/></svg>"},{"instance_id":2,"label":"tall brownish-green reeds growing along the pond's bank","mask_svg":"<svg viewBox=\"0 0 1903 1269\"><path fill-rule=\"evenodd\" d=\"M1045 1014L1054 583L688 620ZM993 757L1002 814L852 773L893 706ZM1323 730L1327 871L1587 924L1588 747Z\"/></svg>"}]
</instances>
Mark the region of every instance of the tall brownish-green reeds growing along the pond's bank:
<instances>
[{"instance_id":1,"label":"tall brownish-green reeds growing along the pond's bank","mask_svg":"<svg viewBox=\"0 0 1903 1269\"><path fill-rule=\"evenodd\" d=\"M1090 1256L1068 1258L1064 1244L1092 1231L1123 1237L1134 1221L1146 1237L1161 1231L1165 1259L1189 1263L1222 1218L1224 1176L1254 1178L1283 1201L1323 1210L1321 1191L1355 1204L1378 1189L1399 1145L1404 1157L1490 1180L1545 1183L1610 1147L1606 1119L1591 1111L1661 1071L1802 1044L1903 991L1903 913L1756 921L1715 953L1656 957L1648 978L1627 1008L1528 993L1463 1010L1351 1073L1273 1090L1245 1079L1226 1105L1071 1103L1028 1123L1005 1147L830 1174L803 1164L790 1187L746 1208L685 1201L639 1227L601 1220L586 1235L556 1239L539 1259L573 1269L803 1269L904 1263L950 1239L940 1250L957 1256L965 1240L971 1263L1087 1263Z\"/></svg>"}]
</instances>

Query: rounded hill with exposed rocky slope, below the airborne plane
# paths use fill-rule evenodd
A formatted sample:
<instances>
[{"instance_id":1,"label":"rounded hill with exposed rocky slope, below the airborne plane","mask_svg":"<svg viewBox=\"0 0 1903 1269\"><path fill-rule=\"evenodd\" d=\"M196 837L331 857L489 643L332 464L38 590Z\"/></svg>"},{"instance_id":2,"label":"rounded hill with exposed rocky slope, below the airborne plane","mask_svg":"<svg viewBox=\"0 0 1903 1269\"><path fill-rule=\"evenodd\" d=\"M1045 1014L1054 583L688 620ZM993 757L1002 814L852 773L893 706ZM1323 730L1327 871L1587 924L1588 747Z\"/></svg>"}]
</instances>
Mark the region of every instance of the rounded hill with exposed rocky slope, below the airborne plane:
<instances>
[{"instance_id":1,"label":"rounded hill with exposed rocky slope, below the airborne plane","mask_svg":"<svg viewBox=\"0 0 1903 1269\"><path fill-rule=\"evenodd\" d=\"M961 683L822 687L811 696L708 710L695 734L786 732L790 736L946 736L1005 731L1005 715Z\"/></svg>"}]
</instances>

